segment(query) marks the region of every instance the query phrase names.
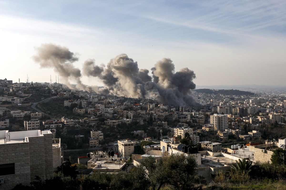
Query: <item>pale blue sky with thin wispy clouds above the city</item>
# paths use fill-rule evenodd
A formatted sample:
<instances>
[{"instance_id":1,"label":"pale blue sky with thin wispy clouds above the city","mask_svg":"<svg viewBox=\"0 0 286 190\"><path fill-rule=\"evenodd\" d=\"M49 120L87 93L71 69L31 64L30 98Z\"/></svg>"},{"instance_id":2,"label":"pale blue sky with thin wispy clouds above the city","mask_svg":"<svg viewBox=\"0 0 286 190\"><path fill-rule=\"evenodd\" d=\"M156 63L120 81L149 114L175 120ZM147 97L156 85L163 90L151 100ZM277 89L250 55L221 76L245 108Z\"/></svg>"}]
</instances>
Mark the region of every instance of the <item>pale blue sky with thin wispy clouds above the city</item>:
<instances>
[{"instance_id":1,"label":"pale blue sky with thin wispy clouds above the city","mask_svg":"<svg viewBox=\"0 0 286 190\"><path fill-rule=\"evenodd\" d=\"M285 10L286 1L0 0L0 79L55 82L58 73L32 58L53 43L74 52L79 69L125 53L148 70L170 58L176 71L194 71L196 85L284 86Z\"/></svg>"}]
</instances>

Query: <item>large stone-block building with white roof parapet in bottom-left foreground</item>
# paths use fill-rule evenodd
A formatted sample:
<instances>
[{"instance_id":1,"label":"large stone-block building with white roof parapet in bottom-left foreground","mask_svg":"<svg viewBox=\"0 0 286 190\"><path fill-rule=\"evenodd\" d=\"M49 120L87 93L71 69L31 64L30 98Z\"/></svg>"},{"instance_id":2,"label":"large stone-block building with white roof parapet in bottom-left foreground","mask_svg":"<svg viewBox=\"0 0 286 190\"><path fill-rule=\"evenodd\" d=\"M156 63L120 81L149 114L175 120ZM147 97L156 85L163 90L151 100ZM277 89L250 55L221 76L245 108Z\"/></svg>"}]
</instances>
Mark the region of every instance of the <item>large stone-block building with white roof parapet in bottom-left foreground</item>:
<instances>
[{"instance_id":1,"label":"large stone-block building with white roof parapet in bottom-left foreground","mask_svg":"<svg viewBox=\"0 0 286 190\"><path fill-rule=\"evenodd\" d=\"M19 183L30 185L36 175L42 180L53 177L52 144L50 131L0 131L0 178L4 179L1 189L8 190Z\"/></svg>"}]
</instances>

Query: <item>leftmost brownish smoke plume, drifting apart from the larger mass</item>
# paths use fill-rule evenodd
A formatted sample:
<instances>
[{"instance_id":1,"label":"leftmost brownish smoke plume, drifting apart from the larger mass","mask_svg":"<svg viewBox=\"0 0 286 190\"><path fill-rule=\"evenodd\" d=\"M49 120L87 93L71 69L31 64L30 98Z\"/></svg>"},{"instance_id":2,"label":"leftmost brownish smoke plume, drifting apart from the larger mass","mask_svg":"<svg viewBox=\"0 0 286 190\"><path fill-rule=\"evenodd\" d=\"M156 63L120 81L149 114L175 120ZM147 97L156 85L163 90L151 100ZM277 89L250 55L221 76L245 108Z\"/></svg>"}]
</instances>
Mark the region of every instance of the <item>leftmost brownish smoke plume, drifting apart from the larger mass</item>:
<instances>
[{"instance_id":1,"label":"leftmost brownish smoke plume, drifting apart from the larger mass","mask_svg":"<svg viewBox=\"0 0 286 190\"><path fill-rule=\"evenodd\" d=\"M82 84L81 71L72 64L78 61L78 58L68 48L54 44L42 44L36 50L38 54L33 56L33 59L40 64L41 68L53 68L70 89L92 91L92 87ZM70 84L70 79L76 80L76 87Z\"/></svg>"}]
</instances>

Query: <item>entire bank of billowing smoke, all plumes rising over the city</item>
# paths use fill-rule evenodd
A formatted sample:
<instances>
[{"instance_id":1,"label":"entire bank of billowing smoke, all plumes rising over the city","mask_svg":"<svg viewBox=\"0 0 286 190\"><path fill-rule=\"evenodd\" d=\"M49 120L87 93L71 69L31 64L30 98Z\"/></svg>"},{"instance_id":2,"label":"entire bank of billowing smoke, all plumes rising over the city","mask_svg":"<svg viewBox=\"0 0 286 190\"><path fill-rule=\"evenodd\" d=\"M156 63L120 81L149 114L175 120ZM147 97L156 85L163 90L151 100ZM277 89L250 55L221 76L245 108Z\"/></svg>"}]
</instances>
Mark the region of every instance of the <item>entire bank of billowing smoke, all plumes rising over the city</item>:
<instances>
[{"instance_id":1,"label":"entire bank of billowing smoke, all plumes rising over the city","mask_svg":"<svg viewBox=\"0 0 286 190\"><path fill-rule=\"evenodd\" d=\"M88 77L98 77L104 83L104 88L98 89L97 86L86 87L82 84L81 72L74 68L73 62L78 58L67 48L44 44L37 48L38 54L34 60L41 67L54 68L69 88L69 79L76 79L79 89L96 91L98 93L112 94L126 97L154 97L159 102L167 105L198 105L191 95L191 90L196 85L193 79L196 77L194 71L183 68L175 72L175 66L172 60L163 58L158 61L151 69L152 77L149 70L139 69L137 62L129 58L126 54L120 54L105 67L96 65L94 59L88 59L83 64L83 75Z\"/></svg>"}]
</instances>

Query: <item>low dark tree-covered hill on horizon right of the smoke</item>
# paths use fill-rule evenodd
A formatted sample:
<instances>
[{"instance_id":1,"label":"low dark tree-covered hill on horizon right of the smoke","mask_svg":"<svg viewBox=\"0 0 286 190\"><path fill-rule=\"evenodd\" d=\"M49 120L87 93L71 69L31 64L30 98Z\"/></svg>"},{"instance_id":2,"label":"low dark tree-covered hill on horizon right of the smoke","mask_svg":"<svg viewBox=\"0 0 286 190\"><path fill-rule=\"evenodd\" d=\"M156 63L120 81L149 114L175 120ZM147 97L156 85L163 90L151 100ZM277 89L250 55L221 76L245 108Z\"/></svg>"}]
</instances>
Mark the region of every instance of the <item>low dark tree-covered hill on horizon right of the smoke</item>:
<instances>
[{"instance_id":1,"label":"low dark tree-covered hill on horizon right of the smoke","mask_svg":"<svg viewBox=\"0 0 286 190\"><path fill-rule=\"evenodd\" d=\"M216 90L216 89L195 89L194 91L198 93L206 93L206 94L221 94L221 95L247 95L247 96L252 96L254 93L248 92L248 91L241 91L241 90Z\"/></svg>"}]
</instances>

